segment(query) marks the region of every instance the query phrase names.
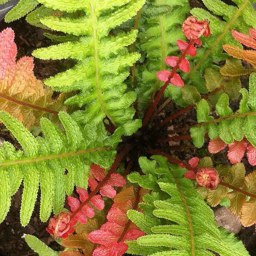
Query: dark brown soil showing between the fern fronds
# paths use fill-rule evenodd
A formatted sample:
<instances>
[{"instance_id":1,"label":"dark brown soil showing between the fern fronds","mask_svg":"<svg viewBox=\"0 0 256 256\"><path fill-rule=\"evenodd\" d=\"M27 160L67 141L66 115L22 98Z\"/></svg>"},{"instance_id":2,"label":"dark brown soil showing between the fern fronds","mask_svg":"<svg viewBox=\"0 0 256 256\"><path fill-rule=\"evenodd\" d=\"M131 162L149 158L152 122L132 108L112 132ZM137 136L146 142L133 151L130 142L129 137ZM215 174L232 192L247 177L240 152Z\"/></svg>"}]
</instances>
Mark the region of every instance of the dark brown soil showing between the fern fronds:
<instances>
[{"instance_id":1,"label":"dark brown soil showing between the fern fronds","mask_svg":"<svg viewBox=\"0 0 256 256\"><path fill-rule=\"evenodd\" d=\"M230 0L223 0L224 2L230 3ZM193 7L203 7L201 0L191 0L191 5ZM53 42L44 37L43 33L45 30L41 28L35 28L30 26L24 18L6 24L5 22L0 22L0 31L2 31L6 27L11 27L15 32L15 43L18 47L18 56L19 59L22 56L31 56L31 52L38 47L46 47L52 45ZM47 31L48 32L48 31ZM58 72L64 71L67 68L70 68L73 65L72 61L49 61L49 60L39 60L35 59L35 68L34 73L35 76L44 80L49 76L53 76ZM164 111L159 113L156 117L153 126L157 124L161 119L166 116L170 116L172 113L175 113L180 108L173 102L170 102ZM196 120L196 112L195 110L189 111L179 118L173 120L172 124L174 129L181 127L181 124L184 126L193 125ZM171 127L172 128L172 127ZM162 129L166 130L166 127ZM144 143L149 142L149 136L152 131L148 130L147 136L143 139L140 137L141 149L143 149ZM163 132L163 130L159 131ZM151 138L154 138L154 134ZM10 141L15 145L17 149L20 149L19 143L12 137L8 130L5 129L4 125L0 125L0 141L1 138ZM151 142L152 143L152 142ZM156 148L156 144L154 143L154 148ZM173 144L177 145L177 144ZM192 145L190 141L180 142L179 145ZM200 150L196 150L195 148L183 149L183 150L170 150L169 144L164 143L162 145L158 145L159 149L165 151L167 153L171 153L179 156L180 159L188 160L193 156L205 156L209 155L207 151L207 143ZM138 151L137 151L138 152ZM145 153L142 152L139 154ZM138 153L137 153L138 154ZM137 155L138 157L138 155ZM225 152L221 152L216 155L211 155L215 163L227 163L227 158ZM246 165L247 171L252 171L252 167L248 165L246 159L243 159L243 163ZM60 246L54 241L54 239L49 235L49 233L45 230L47 223L42 223L39 218L39 202L40 202L40 194L38 195L38 200L35 204L35 209L32 214L31 220L26 227L22 227L20 225L19 219L19 211L20 211L20 203L22 197L22 186L19 188L17 193L12 198L12 206L10 212L8 213L5 221L0 224L0 256L25 256L25 255L37 255L33 252L25 242L22 236L24 234L32 234L42 240L45 244L52 247L54 250L61 250ZM243 241L247 250L249 251L251 256L256 255L256 235L254 227L242 228L237 237Z\"/></svg>"}]
</instances>

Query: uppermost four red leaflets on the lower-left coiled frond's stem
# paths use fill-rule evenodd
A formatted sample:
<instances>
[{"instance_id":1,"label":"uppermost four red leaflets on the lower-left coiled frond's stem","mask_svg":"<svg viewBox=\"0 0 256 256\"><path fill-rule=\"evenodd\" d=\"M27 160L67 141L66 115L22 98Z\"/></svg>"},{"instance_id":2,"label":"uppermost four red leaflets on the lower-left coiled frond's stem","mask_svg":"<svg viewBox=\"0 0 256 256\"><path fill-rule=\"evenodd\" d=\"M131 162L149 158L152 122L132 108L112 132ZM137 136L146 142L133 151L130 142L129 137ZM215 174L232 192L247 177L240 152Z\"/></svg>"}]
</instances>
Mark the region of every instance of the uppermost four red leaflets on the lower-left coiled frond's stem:
<instances>
[{"instance_id":1,"label":"uppermost four red leaflets on the lower-left coiled frond's stem","mask_svg":"<svg viewBox=\"0 0 256 256\"><path fill-rule=\"evenodd\" d=\"M102 181L106 176L105 170L99 165L91 165L90 172L98 181ZM90 187L91 191L93 191L98 185L98 182L95 179L89 175L88 186ZM108 182L100 188L100 194L105 197L114 198L116 196L116 190L113 188L113 186L124 187L125 185L126 181L122 175L112 173Z\"/></svg>"}]
</instances>

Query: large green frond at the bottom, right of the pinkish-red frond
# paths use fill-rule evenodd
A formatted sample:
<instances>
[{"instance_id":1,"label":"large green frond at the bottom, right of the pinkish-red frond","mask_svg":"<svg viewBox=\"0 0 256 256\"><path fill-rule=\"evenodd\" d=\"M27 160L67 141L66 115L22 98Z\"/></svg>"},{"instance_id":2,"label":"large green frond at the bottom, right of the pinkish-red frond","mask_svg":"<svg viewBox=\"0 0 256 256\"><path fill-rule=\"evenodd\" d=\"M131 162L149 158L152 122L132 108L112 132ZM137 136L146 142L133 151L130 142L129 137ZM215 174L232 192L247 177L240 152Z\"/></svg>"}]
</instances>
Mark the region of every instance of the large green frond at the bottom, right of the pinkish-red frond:
<instances>
[{"instance_id":1,"label":"large green frond at the bottom, right of the pinkish-red frond","mask_svg":"<svg viewBox=\"0 0 256 256\"><path fill-rule=\"evenodd\" d=\"M140 158L146 174L132 173L131 182L153 189L139 204L143 213L129 210L128 217L148 235L137 242L127 242L128 253L139 255L248 255L242 243L233 234L218 229L213 212L194 190L184 169L168 164L161 156L155 160Z\"/></svg>"}]
</instances>

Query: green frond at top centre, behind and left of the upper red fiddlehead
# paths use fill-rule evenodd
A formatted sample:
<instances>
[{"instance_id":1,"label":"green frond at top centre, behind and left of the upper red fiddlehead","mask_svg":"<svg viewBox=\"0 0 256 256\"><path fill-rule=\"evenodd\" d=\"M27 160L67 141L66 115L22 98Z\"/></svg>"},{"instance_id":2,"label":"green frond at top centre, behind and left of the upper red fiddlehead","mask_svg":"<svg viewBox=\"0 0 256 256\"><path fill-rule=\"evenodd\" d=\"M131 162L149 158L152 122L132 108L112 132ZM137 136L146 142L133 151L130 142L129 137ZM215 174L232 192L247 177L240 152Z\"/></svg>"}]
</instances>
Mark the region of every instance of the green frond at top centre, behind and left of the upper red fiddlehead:
<instances>
[{"instance_id":1,"label":"green frond at top centre, behind and left of the upper red fiddlehead","mask_svg":"<svg viewBox=\"0 0 256 256\"><path fill-rule=\"evenodd\" d=\"M158 10L157 13L156 10ZM189 12L189 4L187 0L152 1L144 12L148 13L146 26L140 25L147 29L139 34L139 47L146 53L146 65L140 71L141 77L138 77L136 89L140 108L146 106L152 93L161 86L161 82L155 74L159 70L165 70L165 58L179 50L176 45L177 39L185 39L177 25L183 23L185 15ZM171 97L178 104L184 104L184 102L182 103L180 88L173 85L169 85L165 96Z\"/></svg>"}]
</instances>

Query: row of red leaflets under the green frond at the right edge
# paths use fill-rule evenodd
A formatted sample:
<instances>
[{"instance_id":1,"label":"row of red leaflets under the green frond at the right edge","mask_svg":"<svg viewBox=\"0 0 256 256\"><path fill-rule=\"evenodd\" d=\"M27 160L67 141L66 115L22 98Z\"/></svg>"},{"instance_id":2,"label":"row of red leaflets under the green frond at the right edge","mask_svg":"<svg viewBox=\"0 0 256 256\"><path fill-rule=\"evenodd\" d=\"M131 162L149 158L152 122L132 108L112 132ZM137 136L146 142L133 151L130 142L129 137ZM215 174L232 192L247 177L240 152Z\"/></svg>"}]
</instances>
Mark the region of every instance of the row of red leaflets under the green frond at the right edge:
<instances>
[{"instance_id":1,"label":"row of red leaflets under the green frond at the right edge","mask_svg":"<svg viewBox=\"0 0 256 256\"><path fill-rule=\"evenodd\" d=\"M214 140L210 140L208 145L208 151L212 154L216 154L228 146L228 160L231 163L241 162L244 153L246 151L246 156L250 165L256 165L256 147L254 147L250 142L244 138L241 141L234 141L231 144L226 144L219 137Z\"/></svg>"}]
</instances>

